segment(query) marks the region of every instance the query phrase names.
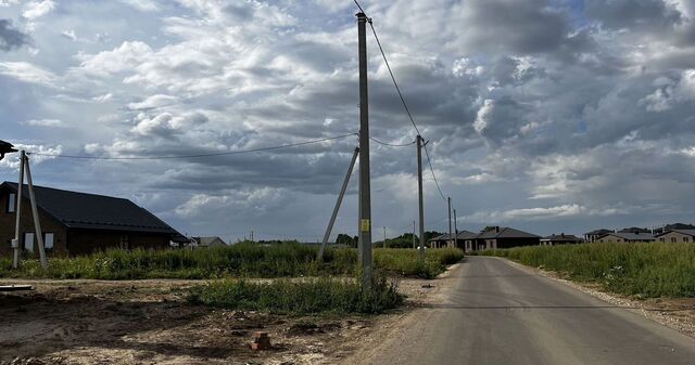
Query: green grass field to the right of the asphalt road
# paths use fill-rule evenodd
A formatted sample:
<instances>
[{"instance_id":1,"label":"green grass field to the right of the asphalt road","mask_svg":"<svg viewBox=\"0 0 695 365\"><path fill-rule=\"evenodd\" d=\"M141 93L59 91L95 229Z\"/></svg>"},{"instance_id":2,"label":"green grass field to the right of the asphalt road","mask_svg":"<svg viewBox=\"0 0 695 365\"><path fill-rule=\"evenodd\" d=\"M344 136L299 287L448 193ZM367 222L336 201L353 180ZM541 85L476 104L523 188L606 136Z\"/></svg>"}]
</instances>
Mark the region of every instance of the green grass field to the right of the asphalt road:
<instances>
[{"instance_id":1,"label":"green grass field to the right of the asphalt road","mask_svg":"<svg viewBox=\"0 0 695 365\"><path fill-rule=\"evenodd\" d=\"M643 298L695 298L693 244L583 244L518 247L481 255L567 274L604 289Z\"/></svg>"}]
</instances>

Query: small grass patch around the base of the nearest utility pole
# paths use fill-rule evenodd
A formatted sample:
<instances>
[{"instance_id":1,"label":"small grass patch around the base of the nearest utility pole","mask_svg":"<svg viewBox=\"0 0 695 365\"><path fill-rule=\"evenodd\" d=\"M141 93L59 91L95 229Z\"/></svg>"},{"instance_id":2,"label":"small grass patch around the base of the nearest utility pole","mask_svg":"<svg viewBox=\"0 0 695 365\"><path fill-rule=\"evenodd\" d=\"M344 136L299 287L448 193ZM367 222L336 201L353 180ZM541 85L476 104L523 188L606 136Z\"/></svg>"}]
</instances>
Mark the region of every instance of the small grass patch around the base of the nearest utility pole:
<instances>
[{"instance_id":1,"label":"small grass patch around the base of the nearest utility pole","mask_svg":"<svg viewBox=\"0 0 695 365\"><path fill-rule=\"evenodd\" d=\"M215 308L279 314L381 313L399 307L395 283L377 279L370 290L354 281L311 278L270 283L223 279L191 289L189 301Z\"/></svg>"}]
</instances>

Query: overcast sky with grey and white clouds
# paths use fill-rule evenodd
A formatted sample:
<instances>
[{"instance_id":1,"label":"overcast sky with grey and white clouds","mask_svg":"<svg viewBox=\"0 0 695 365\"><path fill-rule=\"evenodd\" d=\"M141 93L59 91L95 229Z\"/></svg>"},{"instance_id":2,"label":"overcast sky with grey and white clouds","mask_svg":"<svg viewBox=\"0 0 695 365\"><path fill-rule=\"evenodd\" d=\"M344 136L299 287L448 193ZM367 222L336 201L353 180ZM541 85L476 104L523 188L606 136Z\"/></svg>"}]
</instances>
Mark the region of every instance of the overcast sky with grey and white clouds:
<instances>
[{"instance_id":1,"label":"overcast sky with grey and white clouds","mask_svg":"<svg viewBox=\"0 0 695 365\"><path fill-rule=\"evenodd\" d=\"M692 0L364 0L458 227L694 222ZM0 0L0 139L163 156L356 132L350 0ZM368 38L372 136L415 132ZM35 182L127 197L188 234L317 240L357 141L215 158L35 156ZM0 180L16 180L16 157ZM416 148L371 144L374 238L412 229ZM336 233L356 234L354 174ZM446 205L426 171L428 230Z\"/></svg>"}]
</instances>

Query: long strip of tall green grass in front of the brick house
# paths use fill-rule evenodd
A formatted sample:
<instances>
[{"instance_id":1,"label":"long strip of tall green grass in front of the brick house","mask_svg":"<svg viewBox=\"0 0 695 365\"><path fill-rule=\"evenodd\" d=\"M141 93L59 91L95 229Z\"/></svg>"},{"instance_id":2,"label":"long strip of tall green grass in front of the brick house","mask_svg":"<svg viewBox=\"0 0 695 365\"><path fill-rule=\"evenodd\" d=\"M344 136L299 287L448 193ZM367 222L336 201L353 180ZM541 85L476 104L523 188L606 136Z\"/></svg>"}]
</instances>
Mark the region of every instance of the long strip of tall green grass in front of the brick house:
<instances>
[{"instance_id":1,"label":"long strip of tall green grass in front of the brick house","mask_svg":"<svg viewBox=\"0 0 695 365\"><path fill-rule=\"evenodd\" d=\"M329 248L323 263L317 248L298 243L270 246L251 243L195 250L109 250L86 257L49 258L43 270L38 260L22 260L13 271L9 259L0 259L0 277L24 278L229 278L354 275L356 249ZM460 250L430 249L425 264L413 249L376 249L375 268L391 274L431 278L446 264L463 258Z\"/></svg>"}]
</instances>

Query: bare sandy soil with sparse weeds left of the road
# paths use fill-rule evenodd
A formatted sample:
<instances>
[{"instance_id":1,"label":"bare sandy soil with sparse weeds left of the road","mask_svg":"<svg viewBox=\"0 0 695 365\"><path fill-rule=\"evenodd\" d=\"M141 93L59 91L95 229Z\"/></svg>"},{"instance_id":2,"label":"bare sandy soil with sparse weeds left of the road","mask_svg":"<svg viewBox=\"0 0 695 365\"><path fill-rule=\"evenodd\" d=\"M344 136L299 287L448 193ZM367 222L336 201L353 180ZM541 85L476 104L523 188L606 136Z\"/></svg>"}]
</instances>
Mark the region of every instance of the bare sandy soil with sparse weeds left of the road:
<instances>
[{"instance_id":1,"label":"bare sandy soil with sparse weeds left of the road","mask_svg":"<svg viewBox=\"0 0 695 365\"><path fill-rule=\"evenodd\" d=\"M433 300L440 281L402 279L404 308L383 316L280 316L186 302L200 281L17 281L0 294L0 364L337 364L362 339ZM267 331L273 350L252 351Z\"/></svg>"}]
</instances>

